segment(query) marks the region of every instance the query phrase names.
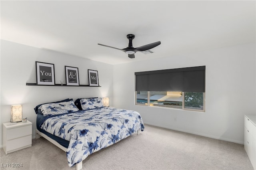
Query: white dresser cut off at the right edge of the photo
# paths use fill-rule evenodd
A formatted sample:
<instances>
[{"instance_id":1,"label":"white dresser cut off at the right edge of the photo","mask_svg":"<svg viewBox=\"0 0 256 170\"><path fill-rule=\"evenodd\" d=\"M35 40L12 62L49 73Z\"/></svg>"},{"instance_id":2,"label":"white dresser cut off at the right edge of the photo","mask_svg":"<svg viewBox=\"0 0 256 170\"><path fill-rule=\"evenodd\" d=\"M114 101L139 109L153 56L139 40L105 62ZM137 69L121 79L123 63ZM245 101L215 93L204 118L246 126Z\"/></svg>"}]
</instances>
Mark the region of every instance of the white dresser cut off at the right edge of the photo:
<instances>
[{"instance_id":1,"label":"white dresser cut off at the right edge of the photo","mask_svg":"<svg viewBox=\"0 0 256 170\"><path fill-rule=\"evenodd\" d=\"M244 149L256 170L256 116L244 115Z\"/></svg>"}]
</instances>

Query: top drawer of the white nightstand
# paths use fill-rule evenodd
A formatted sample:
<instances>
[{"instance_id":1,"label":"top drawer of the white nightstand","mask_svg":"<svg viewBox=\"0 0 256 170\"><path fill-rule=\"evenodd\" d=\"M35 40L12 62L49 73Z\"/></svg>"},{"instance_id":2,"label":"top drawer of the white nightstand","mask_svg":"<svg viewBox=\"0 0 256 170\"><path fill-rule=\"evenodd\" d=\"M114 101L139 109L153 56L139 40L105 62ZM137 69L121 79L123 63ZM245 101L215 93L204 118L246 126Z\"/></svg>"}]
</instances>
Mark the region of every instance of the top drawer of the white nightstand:
<instances>
[{"instance_id":1,"label":"top drawer of the white nightstand","mask_svg":"<svg viewBox=\"0 0 256 170\"><path fill-rule=\"evenodd\" d=\"M6 131L6 140L11 140L15 138L19 138L21 136L27 136L32 134L32 125L19 127L19 128L11 128Z\"/></svg>"}]
</instances>

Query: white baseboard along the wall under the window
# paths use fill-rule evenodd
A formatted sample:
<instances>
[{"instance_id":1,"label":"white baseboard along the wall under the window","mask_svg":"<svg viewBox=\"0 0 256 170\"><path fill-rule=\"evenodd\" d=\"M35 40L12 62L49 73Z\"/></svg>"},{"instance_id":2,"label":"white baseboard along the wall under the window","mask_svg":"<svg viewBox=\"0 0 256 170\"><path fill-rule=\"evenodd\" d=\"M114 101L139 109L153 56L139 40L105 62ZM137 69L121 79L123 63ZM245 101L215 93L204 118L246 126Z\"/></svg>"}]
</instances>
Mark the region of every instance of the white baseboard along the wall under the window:
<instances>
[{"instance_id":1,"label":"white baseboard along the wall under the window","mask_svg":"<svg viewBox=\"0 0 256 170\"><path fill-rule=\"evenodd\" d=\"M192 131L184 130L184 129L166 127L166 126L162 126L162 125L155 125L155 124L153 124L153 123L146 123L146 122L144 122L144 124L146 124L146 125L152 125L152 126L156 126L156 127L167 128L167 129L171 129L171 130L177 130L177 131L180 131L180 132L186 132L186 133L196 134L196 135L204 136L204 137L208 137L208 138L214 138L214 139L218 139L218 140L225 140L225 141L228 141L228 142L234 142L234 143L238 143L238 144L244 144L244 141L233 140L233 139L229 139L229 138L222 138L222 137L219 137L219 136L212 136L212 135L209 135L209 134L202 134L202 133L192 132Z\"/></svg>"}]
</instances>

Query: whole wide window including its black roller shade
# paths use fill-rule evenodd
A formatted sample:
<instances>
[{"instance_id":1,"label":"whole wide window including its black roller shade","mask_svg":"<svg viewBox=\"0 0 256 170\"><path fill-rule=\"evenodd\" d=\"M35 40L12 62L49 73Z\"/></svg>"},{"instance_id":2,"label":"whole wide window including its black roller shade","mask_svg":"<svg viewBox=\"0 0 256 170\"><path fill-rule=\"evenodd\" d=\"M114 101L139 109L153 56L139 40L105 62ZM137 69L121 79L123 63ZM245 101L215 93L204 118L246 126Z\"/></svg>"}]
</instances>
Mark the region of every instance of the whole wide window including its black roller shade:
<instances>
[{"instance_id":1,"label":"whole wide window including its black roller shade","mask_svg":"<svg viewBox=\"0 0 256 170\"><path fill-rule=\"evenodd\" d=\"M205 111L205 66L135 73L136 105Z\"/></svg>"}]
</instances>

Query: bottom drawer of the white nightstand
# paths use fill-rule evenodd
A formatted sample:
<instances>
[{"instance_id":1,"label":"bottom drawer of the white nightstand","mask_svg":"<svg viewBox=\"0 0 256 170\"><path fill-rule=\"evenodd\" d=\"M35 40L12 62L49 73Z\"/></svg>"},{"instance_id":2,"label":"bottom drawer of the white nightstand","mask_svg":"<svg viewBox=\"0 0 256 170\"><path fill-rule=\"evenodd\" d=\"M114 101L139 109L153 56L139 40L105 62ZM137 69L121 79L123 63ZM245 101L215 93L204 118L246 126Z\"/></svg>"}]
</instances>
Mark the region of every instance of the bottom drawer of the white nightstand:
<instances>
[{"instance_id":1,"label":"bottom drawer of the white nightstand","mask_svg":"<svg viewBox=\"0 0 256 170\"><path fill-rule=\"evenodd\" d=\"M8 144L6 145L6 150L11 152L17 148L22 148L24 146L31 146L32 144L32 135L24 136L22 138L17 138L13 140L9 140Z\"/></svg>"}]
</instances>

